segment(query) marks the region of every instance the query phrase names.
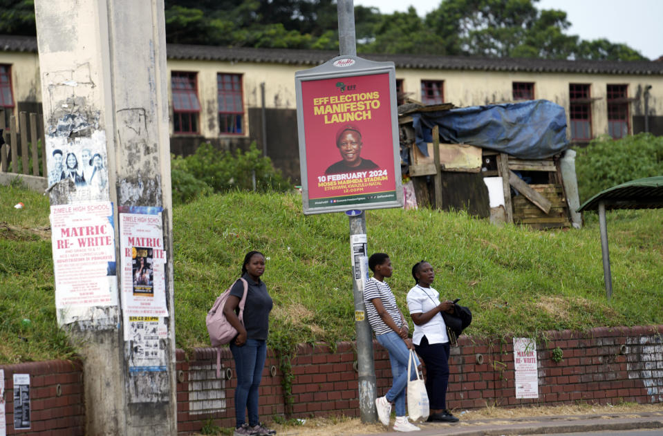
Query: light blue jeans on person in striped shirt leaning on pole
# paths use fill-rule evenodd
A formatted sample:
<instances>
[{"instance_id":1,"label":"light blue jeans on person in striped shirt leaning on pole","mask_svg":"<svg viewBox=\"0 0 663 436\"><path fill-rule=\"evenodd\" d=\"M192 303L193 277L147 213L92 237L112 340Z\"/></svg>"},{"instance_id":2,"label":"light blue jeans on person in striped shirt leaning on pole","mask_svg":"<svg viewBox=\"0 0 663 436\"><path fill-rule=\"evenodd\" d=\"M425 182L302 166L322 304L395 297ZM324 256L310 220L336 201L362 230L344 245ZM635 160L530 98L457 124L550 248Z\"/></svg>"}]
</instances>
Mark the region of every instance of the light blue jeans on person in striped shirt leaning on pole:
<instances>
[{"instance_id":1,"label":"light blue jeans on person in striped shirt leaning on pole","mask_svg":"<svg viewBox=\"0 0 663 436\"><path fill-rule=\"evenodd\" d=\"M405 388L407 387L407 361L410 359L410 350L403 339L396 332L380 334L377 341L389 352L391 361L391 375L393 383L391 389L386 392L386 399L394 403L397 417L404 417L405 413ZM415 357L410 372L410 380L417 378L417 367L419 359Z\"/></svg>"}]
</instances>

